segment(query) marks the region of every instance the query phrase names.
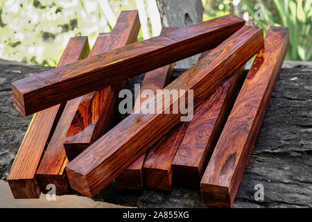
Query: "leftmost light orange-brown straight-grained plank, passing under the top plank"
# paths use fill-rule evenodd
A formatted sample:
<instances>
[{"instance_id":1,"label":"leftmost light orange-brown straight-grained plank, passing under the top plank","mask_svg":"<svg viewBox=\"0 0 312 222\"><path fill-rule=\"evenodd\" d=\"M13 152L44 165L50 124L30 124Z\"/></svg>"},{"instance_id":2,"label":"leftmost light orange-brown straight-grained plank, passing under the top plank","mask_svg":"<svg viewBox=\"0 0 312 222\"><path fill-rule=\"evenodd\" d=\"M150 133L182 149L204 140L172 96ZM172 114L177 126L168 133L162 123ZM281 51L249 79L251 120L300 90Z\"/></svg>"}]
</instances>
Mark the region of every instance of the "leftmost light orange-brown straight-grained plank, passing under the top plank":
<instances>
[{"instance_id":1,"label":"leftmost light orange-brown straight-grained plank, passing under the top plank","mask_svg":"<svg viewBox=\"0 0 312 222\"><path fill-rule=\"evenodd\" d=\"M58 67L86 58L88 53L87 37L73 37L69 40ZM40 197L35 171L63 109L64 104L59 104L33 116L7 178L14 198Z\"/></svg>"}]
</instances>

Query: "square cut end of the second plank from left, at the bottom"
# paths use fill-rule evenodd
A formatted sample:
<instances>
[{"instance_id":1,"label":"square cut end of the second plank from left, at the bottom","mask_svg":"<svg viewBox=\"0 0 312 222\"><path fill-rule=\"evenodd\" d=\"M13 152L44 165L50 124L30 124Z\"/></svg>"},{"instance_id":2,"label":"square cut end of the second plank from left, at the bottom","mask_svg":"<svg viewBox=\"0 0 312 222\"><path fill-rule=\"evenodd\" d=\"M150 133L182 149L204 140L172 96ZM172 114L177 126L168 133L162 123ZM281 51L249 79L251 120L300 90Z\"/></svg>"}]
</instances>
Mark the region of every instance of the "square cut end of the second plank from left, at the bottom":
<instances>
[{"instance_id":1,"label":"square cut end of the second plank from left, at the bottom","mask_svg":"<svg viewBox=\"0 0 312 222\"><path fill-rule=\"evenodd\" d=\"M51 190L50 185L55 185L56 195L68 194L68 181L66 173L62 175L36 174L37 181L43 194Z\"/></svg>"}]
</instances>

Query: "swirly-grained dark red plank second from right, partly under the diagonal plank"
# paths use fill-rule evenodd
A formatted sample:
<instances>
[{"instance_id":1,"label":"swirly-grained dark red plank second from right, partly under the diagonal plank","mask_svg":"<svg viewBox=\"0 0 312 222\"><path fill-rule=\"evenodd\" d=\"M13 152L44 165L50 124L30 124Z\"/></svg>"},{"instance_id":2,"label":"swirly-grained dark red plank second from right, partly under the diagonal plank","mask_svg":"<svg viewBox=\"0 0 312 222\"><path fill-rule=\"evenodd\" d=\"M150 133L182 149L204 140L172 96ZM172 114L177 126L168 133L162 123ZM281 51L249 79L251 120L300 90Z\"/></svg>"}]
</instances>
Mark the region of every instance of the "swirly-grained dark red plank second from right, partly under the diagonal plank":
<instances>
[{"instance_id":1,"label":"swirly-grained dark red plank second from right, partly under the diagonal plank","mask_svg":"<svg viewBox=\"0 0 312 222\"><path fill-rule=\"evenodd\" d=\"M243 71L244 66L196 109L172 162L175 183L200 187L202 173L231 111Z\"/></svg>"}]
</instances>

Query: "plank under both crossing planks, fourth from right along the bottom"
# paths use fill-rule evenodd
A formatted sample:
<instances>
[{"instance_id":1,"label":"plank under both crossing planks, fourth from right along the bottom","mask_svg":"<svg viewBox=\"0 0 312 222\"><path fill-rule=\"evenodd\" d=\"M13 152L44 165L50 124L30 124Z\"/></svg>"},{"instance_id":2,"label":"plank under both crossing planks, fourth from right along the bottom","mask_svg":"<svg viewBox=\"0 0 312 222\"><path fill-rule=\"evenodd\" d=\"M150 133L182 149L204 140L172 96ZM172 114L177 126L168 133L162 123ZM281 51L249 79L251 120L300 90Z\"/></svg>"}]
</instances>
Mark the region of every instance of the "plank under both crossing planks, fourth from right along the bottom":
<instances>
[{"instance_id":1,"label":"plank under both crossing planks, fourth from right along the bottom","mask_svg":"<svg viewBox=\"0 0 312 222\"><path fill-rule=\"evenodd\" d=\"M177 27L164 27L162 28L161 35L166 35L171 31L177 30ZM149 71L145 74L143 83L141 85L140 93L146 89L153 90L156 94L157 89L163 89L168 85L173 73L175 64L166 65L159 69ZM137 100L140 98L137 98ZM134 110L139 109L140 105L144 103L146 98L141 98L140 103L136 102ZM142 167L146 153L142 154L130 167L125 169L116 179L116 189L143 189Z\"/></svg>"}]
</instances>

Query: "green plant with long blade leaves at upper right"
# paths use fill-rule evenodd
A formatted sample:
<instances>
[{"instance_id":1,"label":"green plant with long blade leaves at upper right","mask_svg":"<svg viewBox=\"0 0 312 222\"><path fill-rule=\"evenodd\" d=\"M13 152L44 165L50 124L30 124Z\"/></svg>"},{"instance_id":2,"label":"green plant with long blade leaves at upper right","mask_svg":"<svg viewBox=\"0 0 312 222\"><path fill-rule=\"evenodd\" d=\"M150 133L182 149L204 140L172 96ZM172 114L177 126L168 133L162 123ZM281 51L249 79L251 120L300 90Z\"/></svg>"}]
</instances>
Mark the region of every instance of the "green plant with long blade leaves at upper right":
<instances>
[{"instance_id":1,"label":"green plant with long blade leaves at upper right","mask_svg":"<svg viewBox=\"0 0 312 222\"><path fill-rule=\"evenodd\" d=\"M268 26L287 26L290 31L291 45L286 56L287 60L312 60L312 3L311 0L272 0L264 3L262 0L243 0L250 15L254 17L258 8L256 3L263 6L264 19L255 23L261 26L264 31ZM273 14L268 8L273 3L277 13ZM267 5L266 5L267 4Z\"/></svg>"}]
</instances>

